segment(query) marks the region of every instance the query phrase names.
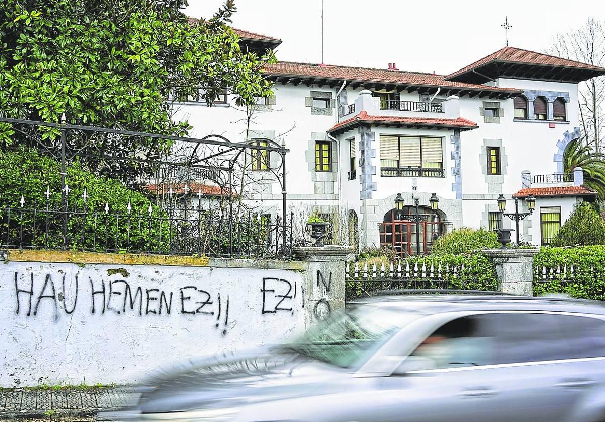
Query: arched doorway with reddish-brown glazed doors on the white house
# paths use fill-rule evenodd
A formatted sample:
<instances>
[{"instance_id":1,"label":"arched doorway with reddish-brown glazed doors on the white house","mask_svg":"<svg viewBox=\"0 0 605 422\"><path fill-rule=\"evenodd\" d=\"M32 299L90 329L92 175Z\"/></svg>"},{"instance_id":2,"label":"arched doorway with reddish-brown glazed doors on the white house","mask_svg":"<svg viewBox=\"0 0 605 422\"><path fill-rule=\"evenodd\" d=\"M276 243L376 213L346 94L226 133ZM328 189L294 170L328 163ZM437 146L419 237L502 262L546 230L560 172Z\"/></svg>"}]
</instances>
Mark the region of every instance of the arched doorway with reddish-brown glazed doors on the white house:
<instances>
[{"instance_id":1,"label":"arched doorway with reddish-brown glazed doors on the white house","mask_svg":"<svg viewBox=\"0 0 605 422\"><path fill-rule=\"evenodd\" d=\"M434 239L443 232L443 224L439 213L436 215L430 207L419 206L418 219L416 224L416 207L413 206L404 207L401 211L392 209L385 213L380 226L381 247L394 248L401 258L429 253Z\"/></svg>"}]
</instances>

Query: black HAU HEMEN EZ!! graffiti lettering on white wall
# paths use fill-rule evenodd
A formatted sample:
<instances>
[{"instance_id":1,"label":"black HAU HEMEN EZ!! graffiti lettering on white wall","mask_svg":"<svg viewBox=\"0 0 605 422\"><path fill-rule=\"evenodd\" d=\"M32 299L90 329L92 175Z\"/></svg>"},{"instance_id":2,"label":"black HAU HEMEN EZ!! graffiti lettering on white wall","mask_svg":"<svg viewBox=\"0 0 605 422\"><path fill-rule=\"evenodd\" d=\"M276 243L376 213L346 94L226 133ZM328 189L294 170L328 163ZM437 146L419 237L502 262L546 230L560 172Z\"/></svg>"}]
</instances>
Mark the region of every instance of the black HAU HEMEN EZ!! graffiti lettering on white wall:
<instances>
[{"instance_id":1,"label":"black HAU HEMEN EZ!! graffiti lettering on white wall","mask_svg":"<svg viewBox=\"0 0 605 422\"><path fill-rule=\"evenodd\" d=\"M54 319L59 319L59 313L72 314L76 310L78 301L82 302L82 295L90 300L91 314L115 313L136 314L139 316L155 314L170 315L173 313L188 315L209 315L216 318L215 327L229 322L229 296L221 297L217 293L212 294L203 288L188 285L177 291L166 291L159 288L132 287L126 280L94 281L88 278L90 290L85 288L78 276L74 276L75 288L70 290L71 299L65 294L65 274L61 277L62 290L57 292L53 276L46 274L44 284L41 288L34 288L34 274L25 277L27 281L19 279L19 273L15 272L15 313L25 313L27 316L38 315L41 304L50 302L54 310ZM177 293L180 300L173 300ZM68 303L69 302L69 303ZM176 302L176 303L175 303ZM27 309L24 309L27 308ZM27 310L27 311L26 311ZM224 316L221 320L221 316ZM223 334L226 330L223 330Z\"/></svg>"}]
</instances>

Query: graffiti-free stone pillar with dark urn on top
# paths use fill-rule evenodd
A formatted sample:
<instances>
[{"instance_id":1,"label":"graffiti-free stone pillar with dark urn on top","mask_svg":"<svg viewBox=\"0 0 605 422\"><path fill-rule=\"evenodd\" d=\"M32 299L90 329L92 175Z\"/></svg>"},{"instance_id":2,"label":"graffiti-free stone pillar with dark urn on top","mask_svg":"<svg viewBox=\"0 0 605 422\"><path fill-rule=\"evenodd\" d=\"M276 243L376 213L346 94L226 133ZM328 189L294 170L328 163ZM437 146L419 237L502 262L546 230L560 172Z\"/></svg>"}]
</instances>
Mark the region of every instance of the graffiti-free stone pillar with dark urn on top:
<instances>
[{"instance_id":1,"label":"graffiti-free stone pillar with dark urn on top","mask_svg":"<svg viewBox=\"0 0 605 422\"><path fill-rule=\"evenodd\" d=\"M495 262L502 293L534 295L534 256L540 249L486 249L482 252Z\"/></svg>"}]
</instances>

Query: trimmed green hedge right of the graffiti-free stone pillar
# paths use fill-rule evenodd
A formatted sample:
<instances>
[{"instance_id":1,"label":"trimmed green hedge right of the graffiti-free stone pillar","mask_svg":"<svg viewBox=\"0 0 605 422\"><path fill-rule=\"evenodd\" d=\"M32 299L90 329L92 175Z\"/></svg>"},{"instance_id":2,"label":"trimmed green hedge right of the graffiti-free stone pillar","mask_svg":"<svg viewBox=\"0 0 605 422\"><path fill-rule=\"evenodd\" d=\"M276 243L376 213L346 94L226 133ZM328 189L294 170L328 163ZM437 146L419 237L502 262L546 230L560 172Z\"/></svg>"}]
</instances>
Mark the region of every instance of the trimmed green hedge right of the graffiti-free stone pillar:
<instances>
[{"instance_id":1,"label":"trimmed green hedge right of the graffiti-free stone pillar","mask_svg":"<svg viewBox=\"0 0 605 422\"><path fill-rule=\"evenodd\" d=\"M605 246L541 248L534 258L534 268L541 271L543 267L547 268L548 280L534 283L535 296L565 293L583 299L605 300ZM549 268L555 268L555 271L551 274Z\"/></svg>"}]
</instances>

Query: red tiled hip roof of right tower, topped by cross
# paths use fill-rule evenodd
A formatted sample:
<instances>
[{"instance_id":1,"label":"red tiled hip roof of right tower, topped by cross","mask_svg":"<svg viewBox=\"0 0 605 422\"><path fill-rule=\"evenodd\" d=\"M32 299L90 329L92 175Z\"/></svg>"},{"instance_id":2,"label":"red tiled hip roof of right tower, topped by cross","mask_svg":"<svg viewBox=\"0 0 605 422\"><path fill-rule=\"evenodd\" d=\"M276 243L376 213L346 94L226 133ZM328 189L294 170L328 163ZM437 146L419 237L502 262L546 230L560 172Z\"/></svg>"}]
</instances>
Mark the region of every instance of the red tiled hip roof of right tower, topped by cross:
<instances>
[{"instance_id":1,"label":"red tiled hip roof of right tower, topped by cross","mask_svg":"<svg viewBox=\"0 0 605 422\"><path fill-rule=\"evenodd\" d=\"M462 68L454 73L450 73L445 77L445 79L452 79L491 62L523 63L529 65L605 71L605 68L576 62L574 60L562 59L561 57L549 56L548 54L536 53L535 51L522 50L521 48L505 47L501 48L495 53L489 54L489 56L483 57L483 59L477 60L465 68Z\"/></svg>"}]
</instances>

